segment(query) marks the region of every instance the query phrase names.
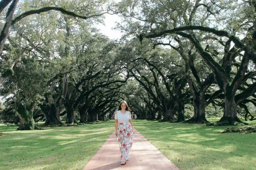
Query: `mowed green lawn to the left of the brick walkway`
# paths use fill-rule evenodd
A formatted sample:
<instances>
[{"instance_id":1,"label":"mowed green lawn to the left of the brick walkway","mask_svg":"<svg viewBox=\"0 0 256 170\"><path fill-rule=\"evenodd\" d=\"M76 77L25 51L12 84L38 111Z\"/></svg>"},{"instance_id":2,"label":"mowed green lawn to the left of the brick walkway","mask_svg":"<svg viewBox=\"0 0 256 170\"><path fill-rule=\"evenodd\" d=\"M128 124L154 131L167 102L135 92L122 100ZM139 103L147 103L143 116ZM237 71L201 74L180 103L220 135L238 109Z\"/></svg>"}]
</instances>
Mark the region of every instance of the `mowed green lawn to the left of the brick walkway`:
<instances>
[{"instance_id":1,"label":"mowed green lawn to the left of the brick walkway","mask_svg":"<svg viewBox=\"0 0 256 170\"><path fill-rule=\"evenodd\" d=\"M0 169L83 169L109 135L114 122L16 131L0 124ZM13 131L11 131L13 130Z\"/></svg>"}]
</instances>

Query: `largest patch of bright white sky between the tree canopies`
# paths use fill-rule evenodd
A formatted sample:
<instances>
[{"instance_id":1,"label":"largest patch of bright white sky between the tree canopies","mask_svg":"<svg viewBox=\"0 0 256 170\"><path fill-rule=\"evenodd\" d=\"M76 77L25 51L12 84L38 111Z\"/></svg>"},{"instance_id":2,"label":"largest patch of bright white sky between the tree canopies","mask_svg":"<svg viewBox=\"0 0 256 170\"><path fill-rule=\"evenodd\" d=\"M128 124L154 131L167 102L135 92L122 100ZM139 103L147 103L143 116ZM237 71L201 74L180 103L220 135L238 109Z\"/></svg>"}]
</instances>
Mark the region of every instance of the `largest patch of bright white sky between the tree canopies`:
<instances>
[{"instance_id":1,"label":"largest patch of bright white sky between the tree canopies","mask_svg":"<svg viewBox=\"0 0 256 170\"><path fill-rule=\"evenodd\" d=\"M114 27L116 26L115 22L121 22L121 17L118 15L110 15L110 14L104 14L105 15L105 26L103 24L96 25L96 28L100 29L100 32L106 36L108 36L110 39L120 39L122 36L122 33L119 30L114 30Z\"/></svg>"}]
</instances>

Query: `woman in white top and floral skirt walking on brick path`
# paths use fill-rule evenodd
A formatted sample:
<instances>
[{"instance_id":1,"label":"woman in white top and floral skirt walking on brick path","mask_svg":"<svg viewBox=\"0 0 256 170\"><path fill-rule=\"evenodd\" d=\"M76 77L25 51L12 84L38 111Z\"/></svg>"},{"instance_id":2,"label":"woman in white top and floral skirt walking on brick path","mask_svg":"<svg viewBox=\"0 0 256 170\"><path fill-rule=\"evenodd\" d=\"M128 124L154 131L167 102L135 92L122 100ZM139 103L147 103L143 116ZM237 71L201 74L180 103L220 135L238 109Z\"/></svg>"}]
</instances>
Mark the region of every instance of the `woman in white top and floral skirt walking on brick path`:
<instances>
[{"instance_id":1,"label":"woman in white top and floral skirt walking on brick path","mask_svg":"<svg viewBox=\"0 0 256 170\"><path fill-rule=\"evenodd\" d=\"M133 143L132 115L126 101L121 101L115 112L116 137L121 151L121 165L129 160Z\"/></svg>"}]
</instances>

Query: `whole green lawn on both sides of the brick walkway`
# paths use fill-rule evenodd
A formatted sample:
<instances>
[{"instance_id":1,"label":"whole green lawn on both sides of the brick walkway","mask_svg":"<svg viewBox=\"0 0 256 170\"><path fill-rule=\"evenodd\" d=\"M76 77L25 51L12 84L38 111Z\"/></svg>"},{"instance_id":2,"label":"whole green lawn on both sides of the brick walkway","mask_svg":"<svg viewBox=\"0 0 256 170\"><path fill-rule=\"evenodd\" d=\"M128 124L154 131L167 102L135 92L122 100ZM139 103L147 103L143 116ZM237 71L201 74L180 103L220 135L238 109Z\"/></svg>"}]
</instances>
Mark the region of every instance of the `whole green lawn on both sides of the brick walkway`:
<instances>
[{"instance_id":1,"label":"whole green lawn on both sides of the brick walkway","mask_svg":"<svg viewBox=\"0 0 256 170\"><path fill-rule=\"evenodd\" d=\"M210 120L214 122L216 120ZM256 121L247 121L256 125ZM133 120L140 131L181 169L254 169L256 133L224 133L212 127ZM16 131L0 124L0 169L83 169L114 130L114 121L78 127Z\"/></svg>"}]
</instances>

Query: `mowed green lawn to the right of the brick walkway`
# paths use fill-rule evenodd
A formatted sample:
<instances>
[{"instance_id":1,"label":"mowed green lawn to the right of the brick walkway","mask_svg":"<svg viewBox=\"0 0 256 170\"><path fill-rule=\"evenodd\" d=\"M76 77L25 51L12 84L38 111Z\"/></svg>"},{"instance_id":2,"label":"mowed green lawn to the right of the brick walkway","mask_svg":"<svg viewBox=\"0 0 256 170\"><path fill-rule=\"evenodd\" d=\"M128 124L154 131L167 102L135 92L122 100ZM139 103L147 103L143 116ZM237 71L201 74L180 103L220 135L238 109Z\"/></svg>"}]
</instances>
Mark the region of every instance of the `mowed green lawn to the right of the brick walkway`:
<instances>
[{"instance_id":1,"label":"mowed green lawn to the right of the brick walkway","mask_svg":"<svg viewBox=\"0 0 256 170\"><path fill-rule=\"evenodd\" d=\"M133 120L133 127L182 170L256 169L256 133L220 133L237 126Z\"/></svg>"}]
</instances>

